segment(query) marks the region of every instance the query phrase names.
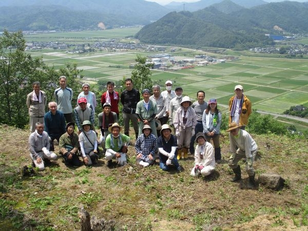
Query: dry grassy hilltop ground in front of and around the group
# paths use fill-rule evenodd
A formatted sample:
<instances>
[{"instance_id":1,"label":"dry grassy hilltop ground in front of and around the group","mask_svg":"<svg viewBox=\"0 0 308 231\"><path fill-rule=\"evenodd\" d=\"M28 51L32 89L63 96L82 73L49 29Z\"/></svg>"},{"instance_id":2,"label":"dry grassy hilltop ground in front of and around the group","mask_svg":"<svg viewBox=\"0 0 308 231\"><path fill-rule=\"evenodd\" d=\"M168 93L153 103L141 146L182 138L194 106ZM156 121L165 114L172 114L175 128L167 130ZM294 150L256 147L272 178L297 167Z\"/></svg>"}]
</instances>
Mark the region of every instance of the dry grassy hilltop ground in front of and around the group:
<instances>
[{"instance_id":1,"label":"dry grassy hilltop ground in front of and around the group","mask_svg":"<svg viewBox=\"0 0 308 231\"><path fill-rule=\"evenodd\" d=\"M133 132L132 132L133 133ZM91 216L115 221L115 230L306 230L308 228L308 149L304 140L256 136L261 173L276 173L285 187L246 189L229 182L228 139L222 131L222 157L213 175L189 176L194 160L181 160L183 171L142 168L129 147L125 167L108 168L104 159L88 168L66 167L62 159L42 172L22 176L30 165L29 132L0 126L0 230L78 230L81 205ZM16 145L16 138L18 145ZM58 147L55 146L56 151Z\"/></svg>"}]
</instances>

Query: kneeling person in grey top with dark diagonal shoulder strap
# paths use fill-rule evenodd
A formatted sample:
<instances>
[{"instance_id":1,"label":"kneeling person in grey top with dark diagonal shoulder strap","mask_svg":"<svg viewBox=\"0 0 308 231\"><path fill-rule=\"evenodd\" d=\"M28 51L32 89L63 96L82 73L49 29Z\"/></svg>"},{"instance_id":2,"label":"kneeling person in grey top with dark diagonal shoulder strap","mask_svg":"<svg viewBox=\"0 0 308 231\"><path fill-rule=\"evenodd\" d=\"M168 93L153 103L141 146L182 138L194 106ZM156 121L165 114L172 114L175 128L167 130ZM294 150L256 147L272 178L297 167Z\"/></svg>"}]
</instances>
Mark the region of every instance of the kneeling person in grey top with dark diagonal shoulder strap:
<instances>
[{"instance_id":1,"label":"kneeling person in grey top with dark diagonal shoulder strap","mask_svg":"<svg viewBox=\"0 0 308 231\"><path fill-rule=\"evenodd\" d=\"M82 158L86 166L97 163L98 137L95 131L91 130L92 123L85 120L82 124L82 132L79 134L79 144Z\"/></svg>"}]
</instances>

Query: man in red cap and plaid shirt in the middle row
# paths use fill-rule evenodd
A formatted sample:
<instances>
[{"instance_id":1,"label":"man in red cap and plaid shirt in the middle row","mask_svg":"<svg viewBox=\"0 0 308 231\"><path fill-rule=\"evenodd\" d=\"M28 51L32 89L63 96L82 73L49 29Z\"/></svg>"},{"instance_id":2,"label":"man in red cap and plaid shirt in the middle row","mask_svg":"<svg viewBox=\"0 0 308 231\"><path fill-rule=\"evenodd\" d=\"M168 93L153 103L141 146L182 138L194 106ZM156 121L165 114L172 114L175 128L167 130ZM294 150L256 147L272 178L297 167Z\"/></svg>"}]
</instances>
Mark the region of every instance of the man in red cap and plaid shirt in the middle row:
<instances>
[{"instance_id":1,"label":"man in red cap and plaid shirt in the middle row","mask_svg":"<svg viewBox=\"0 0 308 231\"><path fill-rule=\"evenodd\" d=\"M94 128L94 112L92 108L87 105L86 98L78 99L78 106L74 108L75 123L78 127L78 134L83 131L82 123L86 120L90 121L92 128Z\"/></svg>"}]
</instances>

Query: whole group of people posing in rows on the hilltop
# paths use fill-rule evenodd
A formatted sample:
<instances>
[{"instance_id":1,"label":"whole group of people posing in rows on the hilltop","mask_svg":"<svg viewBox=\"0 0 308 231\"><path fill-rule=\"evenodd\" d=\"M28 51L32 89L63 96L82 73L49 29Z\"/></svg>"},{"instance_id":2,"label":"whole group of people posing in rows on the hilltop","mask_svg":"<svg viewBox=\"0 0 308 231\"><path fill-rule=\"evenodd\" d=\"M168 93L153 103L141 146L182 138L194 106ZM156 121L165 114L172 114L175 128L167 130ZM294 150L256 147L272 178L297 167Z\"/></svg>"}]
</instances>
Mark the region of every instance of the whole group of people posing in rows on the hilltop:
<instances>
[{"instance_id":1,"label":"whole group of people posing in rows on the hilltop","mask_svg":"<svg viewBox=\"0 0 308 231\"><path fill-rule=\"evenodd\" d=\"M98 160L99 145L105 150L107 165L112 159L119 165L127 163L127 146L130 144L129 125L133 126L136 136L136 160L147 167L155 163L158 153L160 168L168 170L173 165L181 171L180 159L186 159L190 152L195 157L191 176L208 176L216 163L221 161L220 125L221 112L216 99L207 102L205 92L197 92L197 101L192 103L183 95L182 87L172 90L172 81L165 83L166 90L161 92L159 85L149 89L133 88L131 79L125 80L126 89L121 95L114 90L114 83L107 83L107 91L102 94L103 111L98 114L100 138L98 139L94 124L94 111L97 106L95 94L87 83L82 84L78 95L78 106L72 109L73 91L67 87L65 76L59 78L60 87L54 91L54 102L48 103L49 111L45 113L46 94L40 89L40 83L33 83L33 92L27 96L30 116L31 135L29 145L33 163L39 170L44 169L44 160L54 160L53 140L59 142L60 154L65 163L80 166L79 155L87 166ZM241 179L239 160L246 158L246 171L249 184L254 185L255 172L253 161L257 145L245 126L252 113L252 105L243 94L241 85L235 86L235 95L229 100L229 139L232 156L229 166L235 172L232 181ZM119 102L123 105L123 125ZM78 132L75 133L75 125ZM173 131L172 131L173 130ZM213 140L211 145L210 140ZM195 147L194 143L197 143Z\"/></svg>"}]
</instances>

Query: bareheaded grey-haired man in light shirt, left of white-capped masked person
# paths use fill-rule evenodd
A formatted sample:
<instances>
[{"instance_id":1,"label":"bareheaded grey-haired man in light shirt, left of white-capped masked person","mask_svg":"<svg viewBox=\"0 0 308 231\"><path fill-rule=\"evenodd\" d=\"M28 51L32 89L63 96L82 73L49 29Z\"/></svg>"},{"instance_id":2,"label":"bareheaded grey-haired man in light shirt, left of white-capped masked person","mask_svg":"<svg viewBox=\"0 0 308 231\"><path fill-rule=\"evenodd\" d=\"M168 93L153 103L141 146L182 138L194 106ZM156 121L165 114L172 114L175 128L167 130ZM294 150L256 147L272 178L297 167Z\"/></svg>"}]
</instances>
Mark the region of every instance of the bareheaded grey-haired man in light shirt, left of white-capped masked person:
<instances>
[{"instance_id":1,"label":"bareheaded grey-haired man in light shirt, left of white-capped masked person","mask_svg":"<svg viewBox=\"0 0 308 231\"><path fill-rule=\"evenodd\" d=\"M164 113L166 112L166 99L160 93L160 86L154 85L152 87L153 94L150 96L150 100L156 103L157 114L155 115L155 122L159 125L164 124ZM157 136L160 136L161 126L156 127Z\"/></svg>"}]
</instances>

